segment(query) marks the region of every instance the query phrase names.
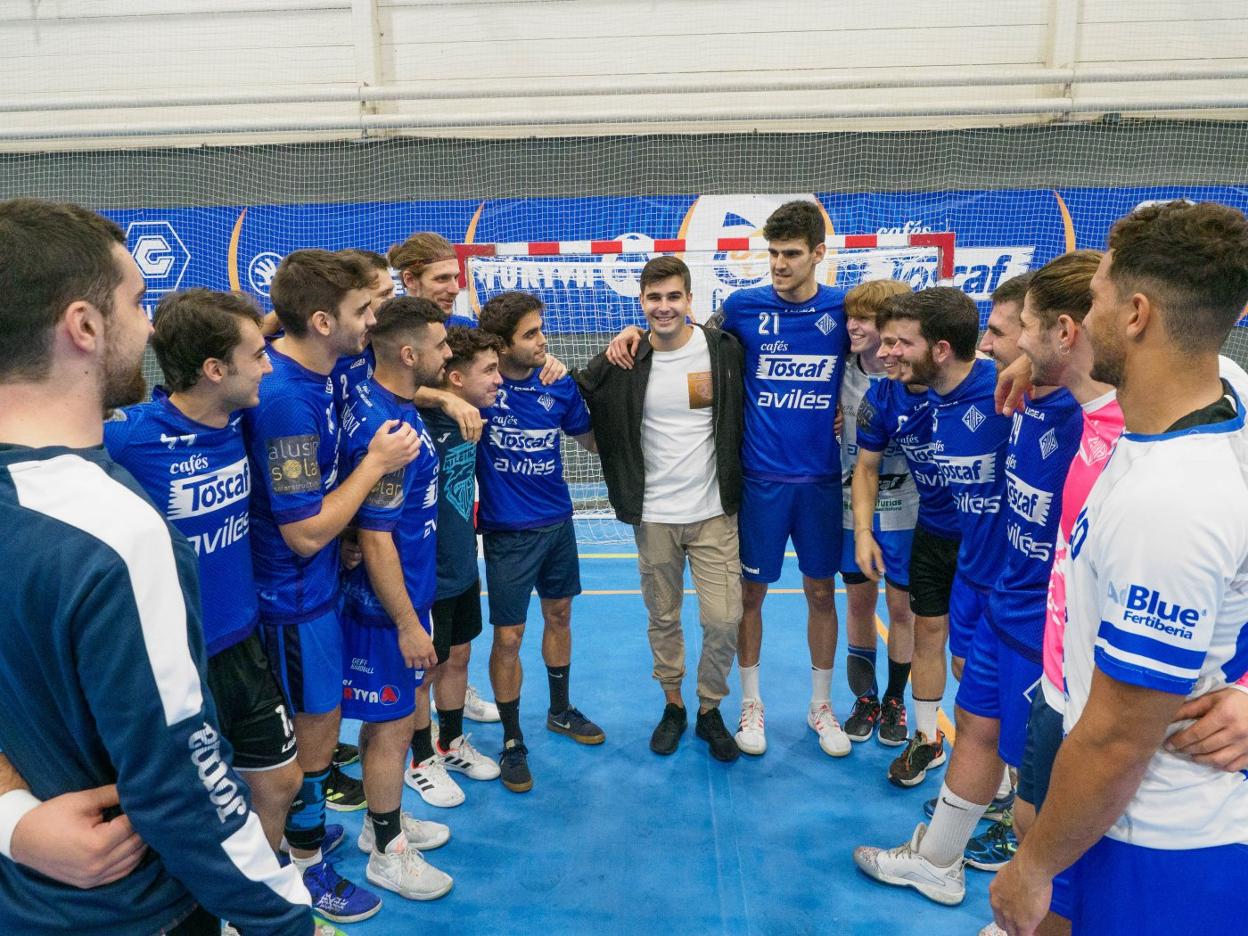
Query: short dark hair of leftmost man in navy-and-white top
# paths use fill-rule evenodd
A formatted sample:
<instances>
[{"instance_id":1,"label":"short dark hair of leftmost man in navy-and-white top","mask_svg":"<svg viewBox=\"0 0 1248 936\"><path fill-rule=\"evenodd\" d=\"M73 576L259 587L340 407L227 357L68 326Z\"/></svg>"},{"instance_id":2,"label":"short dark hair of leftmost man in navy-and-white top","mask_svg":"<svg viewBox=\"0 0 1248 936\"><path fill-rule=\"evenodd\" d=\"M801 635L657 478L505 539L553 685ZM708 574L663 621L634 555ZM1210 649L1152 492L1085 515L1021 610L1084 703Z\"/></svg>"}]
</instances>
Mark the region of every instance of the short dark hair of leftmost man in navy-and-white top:
<instances>
[{"instance_id":1,"label":"short dark hair of leftmost man in navy-and-white top","mask_svg":"<svg viewBox=\"0 0 1248 936\"><path fill-rule=\"evenodd\" d=\"M74 302L112 313L121 285L121 228L77 205L0 202L0 383L39 381L52 366L52 329Z\"/></svg>"}]
</instances>

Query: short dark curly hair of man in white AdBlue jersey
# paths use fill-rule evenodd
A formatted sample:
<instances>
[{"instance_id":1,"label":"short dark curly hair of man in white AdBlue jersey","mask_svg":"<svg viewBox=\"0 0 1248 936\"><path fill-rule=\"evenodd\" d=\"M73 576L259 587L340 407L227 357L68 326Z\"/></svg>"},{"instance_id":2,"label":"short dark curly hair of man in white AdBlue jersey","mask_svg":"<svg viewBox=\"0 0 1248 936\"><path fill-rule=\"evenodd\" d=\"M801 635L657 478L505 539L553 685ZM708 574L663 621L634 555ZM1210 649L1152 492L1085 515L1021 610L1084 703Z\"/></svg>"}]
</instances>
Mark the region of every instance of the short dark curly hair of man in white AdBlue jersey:
<instances>
[{"instance_id":1,"label":"short dark curly hair of man in white AdBlue jersey","mask_svg":"<svg viewBox=\"0 0 1248 936\"><path fill-rule=\"evenodd\" d=\"M1248 303L1248 218L1226 205L1148 205L1109 231L1109 278L1142 292L1181 351L1222 347Z\"/></svg>"}]
</instances>

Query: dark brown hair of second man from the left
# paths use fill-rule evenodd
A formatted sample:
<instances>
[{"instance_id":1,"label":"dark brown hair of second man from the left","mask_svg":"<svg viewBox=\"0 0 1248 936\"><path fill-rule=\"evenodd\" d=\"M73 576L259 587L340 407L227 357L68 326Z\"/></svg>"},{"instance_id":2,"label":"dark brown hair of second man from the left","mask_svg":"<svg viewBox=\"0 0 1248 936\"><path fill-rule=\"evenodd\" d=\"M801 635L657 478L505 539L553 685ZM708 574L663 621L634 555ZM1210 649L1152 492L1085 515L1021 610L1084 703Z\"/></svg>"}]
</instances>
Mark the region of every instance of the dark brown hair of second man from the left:
<instances>
[{"instance_id":1,"label":"dark brown hair of second man from the left","mask_svg":"<svg viewBox=\"0 0 1248 936\"><path fill-rule=\"evenodd\" d=\"M231 363L242 341L242 319L260 327L256 303L241 292L185 290L171 292L156 306L152 351L173 393L188 391L203 374L208 358Z\"/></svg>"}]
</instances>

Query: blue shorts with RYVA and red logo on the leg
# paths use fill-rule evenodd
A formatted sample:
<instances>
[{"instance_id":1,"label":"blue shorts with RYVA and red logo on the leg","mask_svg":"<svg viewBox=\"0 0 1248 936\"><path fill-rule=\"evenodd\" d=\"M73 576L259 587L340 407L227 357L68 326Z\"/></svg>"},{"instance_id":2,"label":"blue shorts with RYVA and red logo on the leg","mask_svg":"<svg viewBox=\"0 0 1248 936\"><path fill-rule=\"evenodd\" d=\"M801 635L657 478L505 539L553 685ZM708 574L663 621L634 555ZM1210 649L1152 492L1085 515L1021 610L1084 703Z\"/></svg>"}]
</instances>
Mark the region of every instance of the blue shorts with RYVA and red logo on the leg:
<instances>
[{"instance_id":1,"label":"blue shorts with RYVA and red logo on the leg","mask_svg":"<svg viewBox=\"0 0 1248 936\"><path fill-rule=\"evenodd\" d=\"M429 609L417 610L426 634L433 633ZM403 661L398 630L389 622L357 618L351 605L342 615L342 716L393 721L416 711L416 688L424 670Z\"/></svg>"}]
</instances>

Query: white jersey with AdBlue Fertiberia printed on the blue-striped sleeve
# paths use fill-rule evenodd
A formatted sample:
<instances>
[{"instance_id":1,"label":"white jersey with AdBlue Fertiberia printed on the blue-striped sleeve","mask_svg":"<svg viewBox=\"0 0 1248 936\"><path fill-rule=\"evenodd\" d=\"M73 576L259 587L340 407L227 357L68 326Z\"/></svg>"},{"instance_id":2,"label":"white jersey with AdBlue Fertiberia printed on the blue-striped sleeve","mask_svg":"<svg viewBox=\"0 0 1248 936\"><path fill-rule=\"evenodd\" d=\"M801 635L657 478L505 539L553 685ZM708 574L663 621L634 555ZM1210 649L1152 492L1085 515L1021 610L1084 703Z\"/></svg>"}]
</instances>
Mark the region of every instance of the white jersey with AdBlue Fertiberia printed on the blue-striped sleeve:
<instances>
[{"instance_id":1,"label":"white jersey with AdBlue Fertiberia printed on the blue-striped sleeve","mask_svg":"<svg viewBox=\"0 0 1248 936\"><path fill-rule=\"evenodd\" d=\"M1237 367L1223 374L1239 397L1236 418L1157 436L1123 433L1075 523L1067 733L1083 714L1097 669L1186 698L1217 691L1248 670L1248 429L1241 402L1248 378ZM1167 850L1248 842L1244 780L1162 748L1108 835Z\"/></svg>"}]
</instances>

